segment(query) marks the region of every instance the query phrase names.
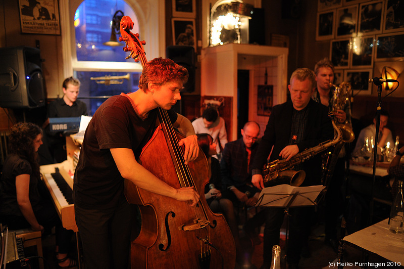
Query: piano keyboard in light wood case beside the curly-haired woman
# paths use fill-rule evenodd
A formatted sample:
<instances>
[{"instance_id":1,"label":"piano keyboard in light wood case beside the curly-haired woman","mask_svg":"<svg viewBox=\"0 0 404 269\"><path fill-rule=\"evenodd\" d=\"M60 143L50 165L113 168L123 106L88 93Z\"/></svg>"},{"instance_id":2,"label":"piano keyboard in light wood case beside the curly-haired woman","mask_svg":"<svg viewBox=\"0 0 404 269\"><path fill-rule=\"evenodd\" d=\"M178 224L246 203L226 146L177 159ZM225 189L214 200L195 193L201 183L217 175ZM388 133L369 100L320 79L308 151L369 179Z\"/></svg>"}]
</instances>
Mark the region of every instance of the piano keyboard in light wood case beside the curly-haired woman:
<instances>
[{"instance_id":1,"label":"piano keyboard in light wood case beside the curly-haired woman","mask_svg":"<svg viewBox=\"0 0 404 269\"><path fill-rule=\"evenodd\" d=\"M40 170L43 175L42 180L51 194L63 227L77 232L72 198L73 180L64 167L62 162L42 165Z\"/></svg>"}]
</instances>

